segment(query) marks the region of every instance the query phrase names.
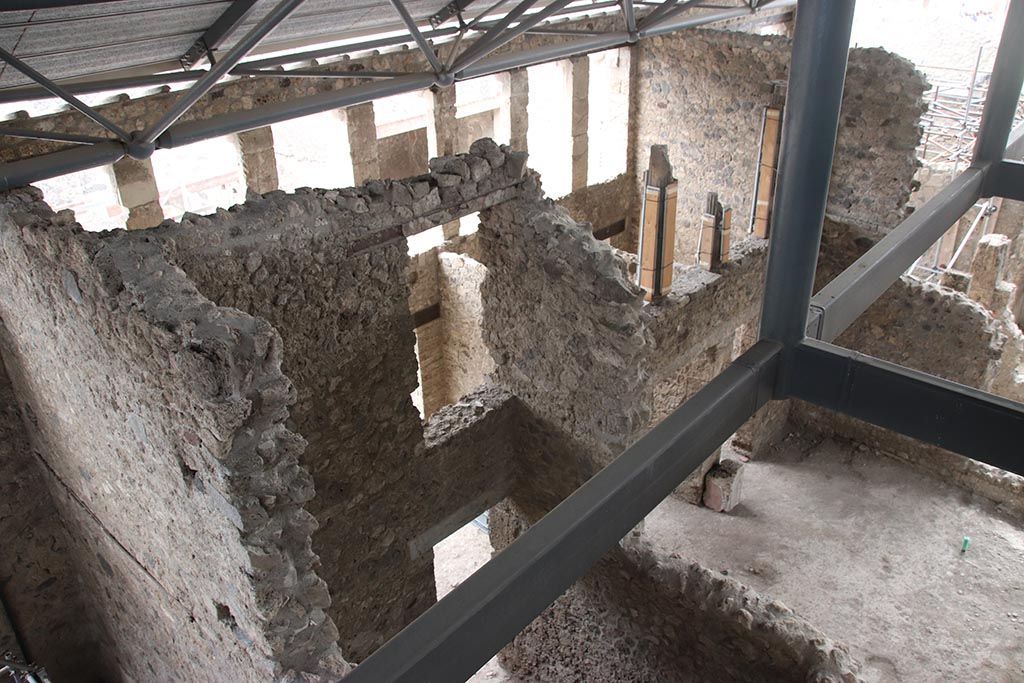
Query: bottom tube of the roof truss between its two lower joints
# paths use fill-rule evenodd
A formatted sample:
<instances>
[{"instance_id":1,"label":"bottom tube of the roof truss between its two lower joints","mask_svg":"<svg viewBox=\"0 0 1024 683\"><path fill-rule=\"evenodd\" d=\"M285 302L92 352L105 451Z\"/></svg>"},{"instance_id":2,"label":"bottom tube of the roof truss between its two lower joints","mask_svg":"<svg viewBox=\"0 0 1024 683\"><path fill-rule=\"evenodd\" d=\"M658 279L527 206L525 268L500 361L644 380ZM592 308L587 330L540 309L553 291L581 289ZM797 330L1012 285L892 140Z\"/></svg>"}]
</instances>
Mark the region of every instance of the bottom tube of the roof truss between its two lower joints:
<instances>
[{"instance_id":1,"label":"bottom tube of the roof truss between its two lower joints","mask_svg":"<svg viewBox=\"0 0 1024 683\"><path fill-rule=\"evenodd\" d=\"M208 140L230 133L241 133L254 128L281 123L289 119L329 112L342 106L369 102L378 97L388 97L404 92L423 90L434 83L430 73L410 74L387 81L374 81L341 90L331 90L307 97L298 97L258 109L222 114L205 121L187 121L175 124L157 138L160 148L180 147L193 142Z\"/></svg>"}]
</instances>

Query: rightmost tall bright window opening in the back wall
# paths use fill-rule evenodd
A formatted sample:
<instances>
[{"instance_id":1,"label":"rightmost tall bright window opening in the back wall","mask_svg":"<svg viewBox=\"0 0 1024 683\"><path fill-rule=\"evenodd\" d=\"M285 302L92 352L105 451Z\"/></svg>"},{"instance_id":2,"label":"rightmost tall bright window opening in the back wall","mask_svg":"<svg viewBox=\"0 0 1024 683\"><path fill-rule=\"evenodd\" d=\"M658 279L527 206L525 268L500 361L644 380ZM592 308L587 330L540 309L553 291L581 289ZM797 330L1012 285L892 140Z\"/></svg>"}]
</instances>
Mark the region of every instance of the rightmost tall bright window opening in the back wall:
<instances>
[{"instance_id":1,"label":"rightmost tall bright window opening in the back wall","mask_svg":"<svg viewBox=\"0 0 1024 683\"><path fill-rule=\"evenodd\" d=\"M611 180L626 172L630 114L630 51L626 48L590 55L587 127L587 184Z\"/></svg>"}]
</instances>

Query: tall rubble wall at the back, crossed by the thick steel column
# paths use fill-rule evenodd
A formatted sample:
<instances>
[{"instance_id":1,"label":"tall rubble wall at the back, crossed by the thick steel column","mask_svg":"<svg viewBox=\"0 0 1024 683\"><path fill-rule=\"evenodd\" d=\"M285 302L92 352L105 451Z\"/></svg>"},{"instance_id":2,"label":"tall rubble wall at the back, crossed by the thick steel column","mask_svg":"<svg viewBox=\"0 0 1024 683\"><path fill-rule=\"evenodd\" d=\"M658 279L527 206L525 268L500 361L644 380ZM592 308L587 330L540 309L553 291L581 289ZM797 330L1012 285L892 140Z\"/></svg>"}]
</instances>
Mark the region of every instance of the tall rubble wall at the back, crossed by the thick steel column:
<instances>
[{"instance_id":1,"label":"tall rubble wall at the back, crossed by the thick steel column","mask_svg":"<svg viewBox=\"0 0 1024 683\"><path fill-rule=\"evenodd\" d=\"M676 260L692 263L708 191L733 208L733 238L745 234L760 153L762 113L784 91L788 39L687 31L641 41L635 55L631 175L640 182L651 144L668 144L679 179ZM903 217L924 80L880 49L850 52L827 212L888 230ZM636 217L634 217L634 220Z\"/></svg>"}]
</instances>

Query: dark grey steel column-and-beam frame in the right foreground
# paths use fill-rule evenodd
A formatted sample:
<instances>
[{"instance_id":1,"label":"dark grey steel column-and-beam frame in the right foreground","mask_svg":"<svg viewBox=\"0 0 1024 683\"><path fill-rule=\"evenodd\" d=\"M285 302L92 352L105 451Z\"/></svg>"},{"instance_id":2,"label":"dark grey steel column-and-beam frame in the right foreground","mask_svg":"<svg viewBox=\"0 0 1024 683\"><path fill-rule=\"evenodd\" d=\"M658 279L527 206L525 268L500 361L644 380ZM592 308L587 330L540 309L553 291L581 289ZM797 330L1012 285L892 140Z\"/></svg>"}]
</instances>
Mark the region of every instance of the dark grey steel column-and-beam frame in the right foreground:
<instances>
[{"instance_id":1,"label":"dark grey steel column-and-beam frame in the right foreground","mask_svg":"<svg viewBox=\"0 0 1024 683\"><path fill-rule=\"evenodd\" d=\"M1024 474L1024 404L833 346L986 194L1021 199L1024 0L1011 0L971 168L813 299L854 0L803 0L783 120L761 339L384 644L345 683L466 680L762 405L801 398ZM825 341L822 341L825 340Z\"/></svg>"}]
</instances>

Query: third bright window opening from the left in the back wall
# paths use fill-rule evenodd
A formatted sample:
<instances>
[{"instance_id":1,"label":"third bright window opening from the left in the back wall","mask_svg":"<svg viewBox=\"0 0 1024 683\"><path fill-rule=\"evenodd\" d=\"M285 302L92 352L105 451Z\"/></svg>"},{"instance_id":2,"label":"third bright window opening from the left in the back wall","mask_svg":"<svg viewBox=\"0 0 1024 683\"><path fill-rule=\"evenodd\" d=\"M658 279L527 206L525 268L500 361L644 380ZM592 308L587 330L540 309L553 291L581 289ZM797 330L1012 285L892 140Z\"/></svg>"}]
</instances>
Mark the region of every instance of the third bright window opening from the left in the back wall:
<instances>
[{"instance_id":1,"label":"third bright window opening from the left in the back wall","mask_svg":"<svg viewBox=\"0 0 1024 683\"><path fill-rule=\"evenodd\" d=\"M345 110L283 121L270 128L281 189L355 184Z\"/></svg>"}]
</instances>

